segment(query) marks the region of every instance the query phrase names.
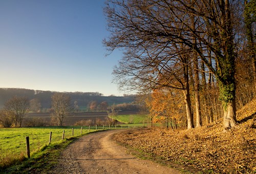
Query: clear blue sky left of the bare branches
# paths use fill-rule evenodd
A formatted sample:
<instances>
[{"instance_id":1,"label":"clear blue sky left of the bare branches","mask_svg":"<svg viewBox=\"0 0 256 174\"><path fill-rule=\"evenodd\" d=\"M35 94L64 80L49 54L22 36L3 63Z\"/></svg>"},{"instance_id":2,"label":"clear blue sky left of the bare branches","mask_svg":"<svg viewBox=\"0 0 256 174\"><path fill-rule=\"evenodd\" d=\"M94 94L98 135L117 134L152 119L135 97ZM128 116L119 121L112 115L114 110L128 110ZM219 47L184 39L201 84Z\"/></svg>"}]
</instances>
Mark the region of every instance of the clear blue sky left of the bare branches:
<instances>
[{"instance_id":1,"label":"clear blue sky left of the bare branches","mask_svg":"<svg viewBox=\"0 0 256 174\"><path fill-rule=\"evenodd\" d=\"M0 0L0 88L121 96L105 57L104 0Z\"/></svg>"}]
</instances>

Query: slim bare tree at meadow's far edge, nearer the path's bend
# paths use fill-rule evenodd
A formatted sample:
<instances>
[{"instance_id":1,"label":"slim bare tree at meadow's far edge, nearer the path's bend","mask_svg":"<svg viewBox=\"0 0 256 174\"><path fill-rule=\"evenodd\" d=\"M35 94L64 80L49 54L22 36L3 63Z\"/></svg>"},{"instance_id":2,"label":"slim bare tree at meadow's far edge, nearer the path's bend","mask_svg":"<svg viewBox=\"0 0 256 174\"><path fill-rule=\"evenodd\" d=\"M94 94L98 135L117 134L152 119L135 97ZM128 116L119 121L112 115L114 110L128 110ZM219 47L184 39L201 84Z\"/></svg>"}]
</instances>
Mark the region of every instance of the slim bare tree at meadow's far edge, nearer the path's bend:
<instances>
[{"instance_id":1,"label":"slim bare tree at meadow's far edge, nearer the path's bend","mask_svg":"<svg viewBox=\"0 0 256 174\"><path fill-rule=\"evenodd\" d=\"M55 93L52 95L52 118L61 126L65 117L68 116L70 110L70 97L65 93Z\"/></svg>"}]
</instances>

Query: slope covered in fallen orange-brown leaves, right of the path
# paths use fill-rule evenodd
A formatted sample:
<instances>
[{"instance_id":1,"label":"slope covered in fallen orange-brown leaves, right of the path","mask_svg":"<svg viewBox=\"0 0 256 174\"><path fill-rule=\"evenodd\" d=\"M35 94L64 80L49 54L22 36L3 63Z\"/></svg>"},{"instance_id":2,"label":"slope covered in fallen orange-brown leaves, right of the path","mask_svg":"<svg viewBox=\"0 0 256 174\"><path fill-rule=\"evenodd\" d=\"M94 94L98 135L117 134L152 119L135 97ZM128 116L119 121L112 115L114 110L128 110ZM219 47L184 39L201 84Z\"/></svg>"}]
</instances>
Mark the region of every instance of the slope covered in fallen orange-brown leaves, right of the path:
<instances>
[{"instance_id":1,"label":"slope covered in fallen orange-brown leaves, right of the path","mask_svg":"<svg viewBox=\"0 0 256 174\"><path fill-rule=\"evenodd\" d=\"M223 132L222 121L190 130L129 130L115 139L134 149L203 172L256 172L256 100L238 111L238 125Z\"/></svg>"}]
</instances>

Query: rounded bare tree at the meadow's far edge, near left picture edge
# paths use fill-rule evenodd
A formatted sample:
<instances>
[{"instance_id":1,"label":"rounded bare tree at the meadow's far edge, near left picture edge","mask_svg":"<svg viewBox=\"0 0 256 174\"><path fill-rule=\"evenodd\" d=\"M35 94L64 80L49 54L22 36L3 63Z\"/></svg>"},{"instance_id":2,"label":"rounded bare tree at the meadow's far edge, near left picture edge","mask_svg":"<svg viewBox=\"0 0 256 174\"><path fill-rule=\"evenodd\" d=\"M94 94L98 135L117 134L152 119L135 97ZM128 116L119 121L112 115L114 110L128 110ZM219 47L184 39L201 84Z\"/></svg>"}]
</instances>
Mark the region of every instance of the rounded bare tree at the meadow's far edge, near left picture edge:
<instances>
[{"instance_id":1,"label":"rounded bare tree at the meadow's far edge, near left picture edge","mask_svg":"<svg viewBox=\"0 0 256 174\"><path fill-rule=\"evenodd\" d=\"M12 117L14 126L21 127L23 118L28 110L28 107L28 98L14 96L6 101L4 105L4 110L8 113L8 115Z\"/></svg>"}]
</instances>

